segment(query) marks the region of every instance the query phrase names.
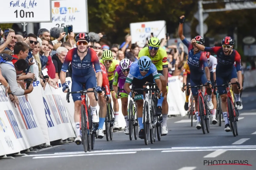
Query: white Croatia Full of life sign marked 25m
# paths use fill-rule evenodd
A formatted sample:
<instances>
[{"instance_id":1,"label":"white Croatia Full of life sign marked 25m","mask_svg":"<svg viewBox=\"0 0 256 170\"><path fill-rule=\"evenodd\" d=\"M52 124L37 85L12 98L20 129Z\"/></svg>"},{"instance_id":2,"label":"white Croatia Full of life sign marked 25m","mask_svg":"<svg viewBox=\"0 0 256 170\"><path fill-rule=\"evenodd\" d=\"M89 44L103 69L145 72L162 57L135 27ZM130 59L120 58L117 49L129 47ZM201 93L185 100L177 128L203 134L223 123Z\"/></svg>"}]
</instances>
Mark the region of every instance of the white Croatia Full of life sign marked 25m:
<instances>
[{"instance_id":1,"label":"white Croatia Full of life sign marked 25m","mask_svg":"<svg viewBox=\"0 0 256 170\"><path fill-rule=\"evenodd\" d=\"M41 22L40 28L71 25L74 33L89 32L87 0L52 0L52 22Z\"/></svg>"}]
</instances>

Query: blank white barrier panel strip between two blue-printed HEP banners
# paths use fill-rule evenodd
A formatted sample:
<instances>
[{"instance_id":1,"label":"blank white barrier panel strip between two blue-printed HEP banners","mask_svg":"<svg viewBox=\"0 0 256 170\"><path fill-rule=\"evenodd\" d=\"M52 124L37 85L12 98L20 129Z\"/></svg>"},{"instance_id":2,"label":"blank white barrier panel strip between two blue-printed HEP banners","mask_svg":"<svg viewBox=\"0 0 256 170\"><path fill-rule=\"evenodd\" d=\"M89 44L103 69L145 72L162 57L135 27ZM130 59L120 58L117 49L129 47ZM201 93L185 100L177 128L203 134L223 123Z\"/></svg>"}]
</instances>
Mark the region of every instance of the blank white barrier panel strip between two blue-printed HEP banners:
<instances>
[{"instance_id":1,"label":"blank white barrier panel strip between two blue-printed HEP banners","mask_svg":"<svg viewBox=\"0 0 256 170\"><path fill-rule=\"evenodd\" d=\"M34 86L33 91L28 94L29 103L32 106L33 113L35 114L35 117L38 120L38 124L41 128L41 132L44 137L44 143L46 145L50 145L50 139L49 139L49 133L48 133L48 127L47 127L47 114L45 112L44 108L44 102L43 102L43 96L42 96L42 88L40 81L33 82L32 84Z\"/></svg>"}]
</instances>

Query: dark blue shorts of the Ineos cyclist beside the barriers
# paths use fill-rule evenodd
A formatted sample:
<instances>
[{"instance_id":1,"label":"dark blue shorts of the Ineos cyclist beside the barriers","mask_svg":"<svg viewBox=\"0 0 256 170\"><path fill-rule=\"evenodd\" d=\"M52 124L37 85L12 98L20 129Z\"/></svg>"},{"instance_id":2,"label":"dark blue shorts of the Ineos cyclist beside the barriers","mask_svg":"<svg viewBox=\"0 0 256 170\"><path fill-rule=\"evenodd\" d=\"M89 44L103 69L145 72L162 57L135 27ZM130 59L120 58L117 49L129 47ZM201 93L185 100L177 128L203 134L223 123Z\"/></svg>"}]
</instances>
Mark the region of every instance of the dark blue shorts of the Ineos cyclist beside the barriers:
<instances>
[{"instance_id":1,"label":"dark blue shorts of the Ineos cyclist beside the barriers","mask_svg":"<svg viewBox=\"0 0 256 170\"><path fill-rule=\"evenodd\" d=\"M93 72L94 73L94 72ZM97 81L96 81L96 76L94 74L86 75L84 77L80 77L77 75L72 75L72 86L71 86L71 92L72 91L81 91L83 90L83 84L85 84L85 89L89 88L97 88ZM81 94L76 93L76 94L71 94L73 101L81 100Z\"/></svg>"}]
</instances>

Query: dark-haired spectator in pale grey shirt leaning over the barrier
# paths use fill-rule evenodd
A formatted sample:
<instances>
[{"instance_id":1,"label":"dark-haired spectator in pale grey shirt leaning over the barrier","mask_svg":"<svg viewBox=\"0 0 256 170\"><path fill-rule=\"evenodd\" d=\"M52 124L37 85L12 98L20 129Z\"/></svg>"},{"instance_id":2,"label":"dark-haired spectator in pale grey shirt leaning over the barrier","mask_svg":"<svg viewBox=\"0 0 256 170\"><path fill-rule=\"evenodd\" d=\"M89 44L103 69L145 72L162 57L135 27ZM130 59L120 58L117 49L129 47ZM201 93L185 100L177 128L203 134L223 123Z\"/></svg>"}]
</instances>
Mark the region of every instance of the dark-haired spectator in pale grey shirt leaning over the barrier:
<instances>
[{"instance_id":1,"label":"dark-haired spectator in pale grey shirt leaning over the barrier","mask_svg":"<svg viewBox=\"0 0 256 170\"><path fill-rule=\"evenodd\" d=\"M12 62L5 62L0 64L0 69L3 77L8 81L12 95L22 96L32 92L33 86L30 84L28 89L21 89L17 84L16 77L25 72L28 68L28 63L24 59L18 60L14 65Z\"/></svg>"}]
</instances>

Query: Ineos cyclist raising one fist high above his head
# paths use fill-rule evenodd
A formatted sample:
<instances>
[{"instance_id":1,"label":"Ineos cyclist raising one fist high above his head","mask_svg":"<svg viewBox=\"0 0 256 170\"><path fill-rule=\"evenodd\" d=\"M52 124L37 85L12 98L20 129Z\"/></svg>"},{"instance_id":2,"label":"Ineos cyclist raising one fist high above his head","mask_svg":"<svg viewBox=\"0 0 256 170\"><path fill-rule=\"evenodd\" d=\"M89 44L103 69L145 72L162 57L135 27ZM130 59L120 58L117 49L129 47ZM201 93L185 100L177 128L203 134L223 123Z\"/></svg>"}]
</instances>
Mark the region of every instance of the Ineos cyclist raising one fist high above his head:
<instances>
[{"instance_id":1,"label":"Ineos cyclist raising one fist high above his head","mask_svg":"<svg viewBox=\"0 0 256 170\"><path fill-rule=\"evenodd\" d=\"M180 39L182 40L182 43L187 46L188 48L188 66L190 69L190 84L191 86L197 86L202 84L208 84L208 87L206 86L206 92L208 95L208 101L207 105L209 109L213 109L213 103L212 103L212 83L210 78L210 70L208 68L207 63L207 57L205 54L200 51L195 45L192 45L183 35L183 22L185 20L185 16L180 17L180 25L178 34ZM201 36L196 36L196 43L204 45L204 39ZM200 116L198 114L198 91L197 88L191 88L192 95L195 98L195 110L196 110L196 116L197 116L197 129L201 129L201 122L200 122Z\"/></svg>"}]
</instances>

